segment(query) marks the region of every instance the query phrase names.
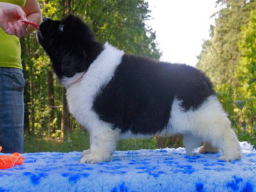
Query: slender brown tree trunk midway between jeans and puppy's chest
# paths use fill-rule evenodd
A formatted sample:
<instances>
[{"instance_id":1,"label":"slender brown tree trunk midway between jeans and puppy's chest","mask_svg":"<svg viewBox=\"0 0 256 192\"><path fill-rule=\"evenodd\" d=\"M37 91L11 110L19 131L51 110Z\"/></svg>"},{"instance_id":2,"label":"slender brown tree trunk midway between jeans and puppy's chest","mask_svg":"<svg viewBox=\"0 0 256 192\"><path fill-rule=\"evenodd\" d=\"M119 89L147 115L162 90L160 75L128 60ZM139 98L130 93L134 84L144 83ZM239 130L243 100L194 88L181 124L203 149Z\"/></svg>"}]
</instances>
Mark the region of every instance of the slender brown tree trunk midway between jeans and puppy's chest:
<instances>
[{"instance_id":1,"label":"slender brown tree trunk midway between jeans and puppy's chest","mask_svg":"<svg viewBox=\"0 0 256 192\"><path fill-rule=\"evenodd\" d=\"M48 126L48 138L51 136L51 132L55 132L55 125L52 124L54 121L54 87L53 87L53 74L51 70L47 70L48 77L48 99L49 99L49 126Z\"/></svg>"}]
</instances>

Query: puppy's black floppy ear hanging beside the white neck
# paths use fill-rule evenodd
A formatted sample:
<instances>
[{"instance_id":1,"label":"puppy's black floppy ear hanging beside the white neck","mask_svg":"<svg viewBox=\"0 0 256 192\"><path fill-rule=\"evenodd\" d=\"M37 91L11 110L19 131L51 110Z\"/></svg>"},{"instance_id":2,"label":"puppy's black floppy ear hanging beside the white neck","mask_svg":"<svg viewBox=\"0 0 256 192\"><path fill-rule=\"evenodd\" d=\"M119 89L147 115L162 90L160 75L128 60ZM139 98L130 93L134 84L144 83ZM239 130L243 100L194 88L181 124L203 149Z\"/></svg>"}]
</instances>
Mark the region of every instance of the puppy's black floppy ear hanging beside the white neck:
<instances>
[{"instance_id":1,"label":"puppy's black floppy ear hanging beside the white neck","mask_svg":"<svg viewBox=\"0 0 256 192\"><path fill-rule=\"evenodd\" d=\"M86 70L86 52L72 51L66 54L61 63L63 76L73 77L78 72Z\"/></svg>"}]
</instances>

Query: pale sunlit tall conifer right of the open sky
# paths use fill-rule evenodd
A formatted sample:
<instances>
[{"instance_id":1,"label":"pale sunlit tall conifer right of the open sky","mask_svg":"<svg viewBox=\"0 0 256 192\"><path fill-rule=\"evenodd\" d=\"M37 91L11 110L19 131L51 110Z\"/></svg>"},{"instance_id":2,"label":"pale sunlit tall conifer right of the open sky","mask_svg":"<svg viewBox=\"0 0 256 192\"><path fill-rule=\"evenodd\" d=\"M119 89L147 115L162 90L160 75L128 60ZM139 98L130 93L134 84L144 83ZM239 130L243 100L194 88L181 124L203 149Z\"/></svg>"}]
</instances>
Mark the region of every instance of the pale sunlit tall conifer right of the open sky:
<instances>
[{"instance_id":1,"label":"pale sunlit tall conifer right of the open sky","mask_svg":"<svg viewBox=\"0 0 256 192\"><path fill-rule=\"evenodd\" d=\"M237 42L241 38L241 27L248 23L256 2L244 0L217 1L221 8L215 13L215 26L211 26L211 39L204 42L197 67L202 68L214 83L237 85L234 77L239 65Z\"/></svg>"}]
</instances>

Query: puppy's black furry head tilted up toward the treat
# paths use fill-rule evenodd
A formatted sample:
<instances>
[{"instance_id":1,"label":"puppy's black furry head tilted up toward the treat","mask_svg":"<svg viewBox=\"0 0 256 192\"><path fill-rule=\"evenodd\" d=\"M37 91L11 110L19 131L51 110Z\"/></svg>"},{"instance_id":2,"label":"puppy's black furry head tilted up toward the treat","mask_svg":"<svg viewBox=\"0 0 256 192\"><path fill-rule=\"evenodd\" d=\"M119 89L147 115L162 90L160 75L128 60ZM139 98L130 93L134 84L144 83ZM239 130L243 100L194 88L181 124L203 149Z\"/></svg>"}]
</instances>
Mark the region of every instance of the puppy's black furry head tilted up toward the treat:
<instances>
[{"instance_id":1,"label":"puppy's black furry head tilted up toward the treat","mask_svg":"<svg viewBox=\"0 0 256 192\"><path fill-rule=\"evenodd\" d=\"M38 42L50 56L59 79L73 77L90 65L95 35L84 22L68 15L62 20L45 18L37 33Z\"/></svg>"}]
</instances>

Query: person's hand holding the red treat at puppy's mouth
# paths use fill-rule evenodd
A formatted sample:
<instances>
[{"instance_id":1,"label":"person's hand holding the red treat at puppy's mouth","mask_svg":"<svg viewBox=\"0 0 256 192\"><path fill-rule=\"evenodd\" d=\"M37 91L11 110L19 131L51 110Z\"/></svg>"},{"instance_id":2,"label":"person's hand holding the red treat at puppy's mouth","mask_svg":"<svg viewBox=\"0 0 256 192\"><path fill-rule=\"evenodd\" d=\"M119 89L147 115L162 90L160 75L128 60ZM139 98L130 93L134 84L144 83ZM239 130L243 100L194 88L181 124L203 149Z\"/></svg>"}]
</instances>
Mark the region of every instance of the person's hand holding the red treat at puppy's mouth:
<instances>
[{"instance_id":1,"label":"person's hand holding the red treat at puppy's mouth","mask_svg":"<svg viewBox=\"0 0 256 192\"><path fill-rule=\"evenodd\" d=\"M19 38L27 35L28 24L21 20L26 19L26 13L15 4L0 3L0 27L9 35L15 35Z\"/></svg>"}]
</instances>

